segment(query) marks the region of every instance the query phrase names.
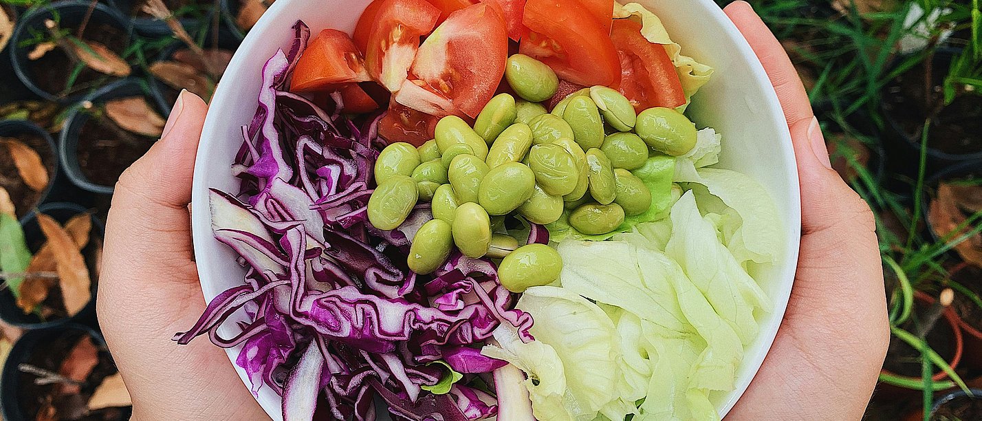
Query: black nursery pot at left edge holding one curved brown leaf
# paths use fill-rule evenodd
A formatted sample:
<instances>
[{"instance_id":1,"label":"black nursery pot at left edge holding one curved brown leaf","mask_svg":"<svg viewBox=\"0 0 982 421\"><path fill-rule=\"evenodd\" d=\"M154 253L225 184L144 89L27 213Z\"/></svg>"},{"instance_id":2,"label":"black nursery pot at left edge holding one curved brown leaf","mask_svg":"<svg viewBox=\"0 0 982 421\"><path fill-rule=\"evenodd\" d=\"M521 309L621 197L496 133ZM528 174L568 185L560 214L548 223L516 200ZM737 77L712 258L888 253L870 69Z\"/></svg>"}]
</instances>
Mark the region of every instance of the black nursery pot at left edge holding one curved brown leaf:
<instances>
[{"instance_id":1,"label":"black nursery pot at left edge holding one curved brown leaf","mask_svg":"<svg viewBox=\"0 0 982 421\"><path fill-rule=\"evenodd\" d=\"M7 188L11 199L14 200L17 216L24 218L31 209L45 202L52 190L56 188L55 184L58 184L58 148L48 132L27 120L0 121L0 137L14 137L25 141L27 146L30 146L40 155L41 162L48 171L48 185L41 191L34 191L21 180L8 155L4 155L8 158L4 159L4 162L0 162L0 169L2 169L0 173L3 173L0 177L20 181L20 183L0 185ZM0 153L6 154L8 151L4 148Z\"/></svg>"}]
</instances>

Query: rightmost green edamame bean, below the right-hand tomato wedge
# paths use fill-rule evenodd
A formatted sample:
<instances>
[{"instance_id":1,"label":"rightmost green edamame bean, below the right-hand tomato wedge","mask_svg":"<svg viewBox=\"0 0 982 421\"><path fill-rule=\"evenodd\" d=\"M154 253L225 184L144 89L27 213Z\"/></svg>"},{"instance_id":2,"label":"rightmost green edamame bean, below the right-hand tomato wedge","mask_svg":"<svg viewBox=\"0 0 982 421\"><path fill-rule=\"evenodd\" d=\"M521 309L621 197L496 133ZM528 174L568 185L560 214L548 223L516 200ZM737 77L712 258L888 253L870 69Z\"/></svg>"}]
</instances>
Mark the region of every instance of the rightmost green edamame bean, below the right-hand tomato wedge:
<instances>
[{"instance_id":1,"label":"rightmost green edamame bean, below the right-hand tomato wedge","mask_svg":"<svg viewBox=\"0 0 982 421\"><path fill-rule=\"evenodd\" d=\"M637 115L634 132L648 146L672 155L682 156L695 147L698 132L682 113L663 107L649 108Z\"/></svg>"}]
</instances>

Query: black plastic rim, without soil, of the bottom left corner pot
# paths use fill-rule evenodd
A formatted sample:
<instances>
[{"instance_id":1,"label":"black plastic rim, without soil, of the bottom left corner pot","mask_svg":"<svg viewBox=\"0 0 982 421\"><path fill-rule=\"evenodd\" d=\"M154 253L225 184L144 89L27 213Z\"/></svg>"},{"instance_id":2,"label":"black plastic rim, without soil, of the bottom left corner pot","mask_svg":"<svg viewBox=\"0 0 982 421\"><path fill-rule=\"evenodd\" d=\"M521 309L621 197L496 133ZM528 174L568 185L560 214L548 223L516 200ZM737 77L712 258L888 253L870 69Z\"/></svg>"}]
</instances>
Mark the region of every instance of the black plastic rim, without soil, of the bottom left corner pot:
<instances>
[{"instance_id":1,"label":"black plastic rim, without soil, of the bottom left corner pot","mask_svg":"<svg viewBox=\"0 0 982 421\"><path fill-rule=\"evenodd\" d=\"M108 355L106 342L98 332L82 325L65 325L58 328L41 329L27 332L20 340L14 343L7 356L7 361L3 365L3 374L0 382L3 384L3 393L0 394L0 406L3 410L3 419L6 421L33 421L36 414L28 413L24 402L36 396L29 395L26 391L26 377L18 368L20 364L35 359L35 355L43 355L40 352L49 351L49 346L53 342L74 341L75 338L82 338L88 335L92 342L100 349L100 354ZM111 361L111 356L109 357ZM55 368L57 370L57 368ZM113 409L119 411L119 419L129 419L132 408Z\"/></svg>"}]
</instances>

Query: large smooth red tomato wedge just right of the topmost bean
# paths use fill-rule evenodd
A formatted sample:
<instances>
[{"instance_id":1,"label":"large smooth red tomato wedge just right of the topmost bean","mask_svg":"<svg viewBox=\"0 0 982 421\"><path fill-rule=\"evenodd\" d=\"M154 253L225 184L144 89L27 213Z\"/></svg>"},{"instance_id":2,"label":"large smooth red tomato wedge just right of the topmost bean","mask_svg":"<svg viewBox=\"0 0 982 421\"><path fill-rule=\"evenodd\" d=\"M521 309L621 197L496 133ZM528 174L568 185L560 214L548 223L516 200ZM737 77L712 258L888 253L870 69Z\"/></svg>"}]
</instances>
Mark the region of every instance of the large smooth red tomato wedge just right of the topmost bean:
<instances>
[{"instance_id":1,"label":"large smooth red tomato wedge just right of the topmost bean","mask_svg":"<svg viewBox=\"0 0 982 421\"><path fill-rule=\"evenodd\" d=\"M529 33L519 51L549 65L560 79L608 86L621 74L609 32L578 1L528 0L522 22Z\"/></svg>"}]
</instances>

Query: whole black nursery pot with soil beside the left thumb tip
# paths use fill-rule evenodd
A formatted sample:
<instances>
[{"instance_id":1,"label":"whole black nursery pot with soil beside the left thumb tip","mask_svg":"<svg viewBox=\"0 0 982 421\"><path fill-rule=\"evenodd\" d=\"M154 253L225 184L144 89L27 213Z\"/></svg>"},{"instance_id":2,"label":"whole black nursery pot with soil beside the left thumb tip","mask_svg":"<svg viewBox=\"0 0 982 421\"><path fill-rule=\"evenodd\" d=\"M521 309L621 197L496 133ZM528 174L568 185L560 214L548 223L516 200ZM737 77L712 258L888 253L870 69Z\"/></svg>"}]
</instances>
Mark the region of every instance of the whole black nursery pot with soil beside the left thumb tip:
<instances>
[{"instance_id":1,"label":"whole black nursery pot with soil beside the left thumb tip","mask_svg":"<svg viewBox=\"0 0 982 421\"><path fill-rule=\"evenodd\" d=\"M143 96L148 103L156 103L146 92L145 83L140 79L119 80L90 93L84 99L98 106L111 99L131 96ZM156 111L158 113L160 112L160 110ZM96 135L101 132L88 132L89 130L96 131L100 129L98 128L98 124L92 121L91 114L86 110L81 107L73 108L65 118L65 126L62 129L58 141L58 153L61 155L62 169L72 184L78 185L80 188L93 193L110 194L115 188L116 178L119 177L117 173L122 173L123 170L142 156L146 150L139 150L139 148L133 147L132 145L116 145L115 147L100 147L96 149L94 146L96 140L110 137L97 137ZM112 134L109 133L108 135ZM150 145L155 141L155 139L143 137L139 137L139 140L146 140L146 149L149 149ZM140 143L140 145L142 144ZM84 159L81 155L82 153L86 154ZM107 155L110 153L115 155ZM89 163L88 161L90 160L98 160L98 162ZM113 165L116 165L116 167L112 167ZM122 168L120 168L121 166ZM90 171L100 171L101 173L86 174L83 167ZM93 174L96 174L94 179L92 178Z\"/></svg>"}]
</instances>

